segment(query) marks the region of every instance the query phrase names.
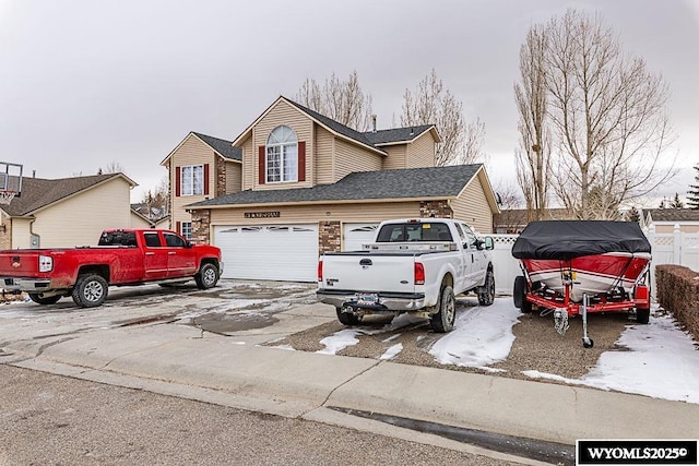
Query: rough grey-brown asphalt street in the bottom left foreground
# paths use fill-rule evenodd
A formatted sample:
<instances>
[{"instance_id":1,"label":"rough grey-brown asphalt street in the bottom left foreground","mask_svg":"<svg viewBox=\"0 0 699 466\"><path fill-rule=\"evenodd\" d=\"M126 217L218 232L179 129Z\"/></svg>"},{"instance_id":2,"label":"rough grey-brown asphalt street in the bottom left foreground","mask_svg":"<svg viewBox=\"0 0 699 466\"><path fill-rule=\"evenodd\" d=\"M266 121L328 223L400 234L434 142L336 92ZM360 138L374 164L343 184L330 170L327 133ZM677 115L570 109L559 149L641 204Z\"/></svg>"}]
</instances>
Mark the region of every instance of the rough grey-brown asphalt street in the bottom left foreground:
<instances>
[{"instance_id":1,"label":"rough grey-brown asphalt street in the bottom left foreground","mask_svg":"<svg viewBox=\"0 0 699 466\"><path fill-rule=\"evenodd\" d=\"M0 465L94 464L513 463L0 363Z\"/></svg>"}]
</instances>

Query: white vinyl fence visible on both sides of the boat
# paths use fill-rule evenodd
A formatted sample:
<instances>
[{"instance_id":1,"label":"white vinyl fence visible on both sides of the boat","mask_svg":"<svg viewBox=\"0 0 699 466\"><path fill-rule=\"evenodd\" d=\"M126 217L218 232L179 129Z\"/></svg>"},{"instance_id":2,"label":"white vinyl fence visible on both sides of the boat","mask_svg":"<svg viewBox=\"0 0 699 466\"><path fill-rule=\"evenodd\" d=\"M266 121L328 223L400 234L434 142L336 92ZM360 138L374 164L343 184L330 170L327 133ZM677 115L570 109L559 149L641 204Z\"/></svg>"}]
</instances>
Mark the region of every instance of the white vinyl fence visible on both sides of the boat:
<instances>
[{"instance_id":1,"label":"white vinyl fence visible on both sides of the boat","mask_svg":"<svg viewBox=\"0 0 699 466\"><path fill-rule=\"evenodd\" d=\"M699 272L699 234L682 232L676 225L672 234L655 234L651 225L644 231L651 243L651 290L655 294L655 265L678 264ZM495 241L493 266L495 290L499 295L511 295L514 277L521 275L519 261L512 258L512 244L518 235L490 235Z\"/></svg>"}]
</instances>

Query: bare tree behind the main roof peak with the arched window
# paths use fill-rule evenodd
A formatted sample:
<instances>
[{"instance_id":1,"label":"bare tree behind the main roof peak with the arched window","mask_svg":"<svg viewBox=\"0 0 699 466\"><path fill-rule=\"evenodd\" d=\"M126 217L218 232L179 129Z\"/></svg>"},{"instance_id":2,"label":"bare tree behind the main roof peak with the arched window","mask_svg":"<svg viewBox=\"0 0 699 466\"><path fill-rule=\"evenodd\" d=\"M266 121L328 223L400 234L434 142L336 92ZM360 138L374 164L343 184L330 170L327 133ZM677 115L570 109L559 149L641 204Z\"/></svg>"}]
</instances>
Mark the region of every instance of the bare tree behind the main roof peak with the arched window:
<instances>
[{"instance_id":1,"label":"bare tree behind the main roof peak with the arched window","mask_svg":"<svg viewBox=\"0 0 699 466\"><path fill-rule=\"evenodd\" d=\"M316 80L307 79L296 94L296 100L357 131L367 131L371 126L371 96L362 91L356 71L347 81L341 81L332 73L322 86Z\"/></svg>"}]
</instances>

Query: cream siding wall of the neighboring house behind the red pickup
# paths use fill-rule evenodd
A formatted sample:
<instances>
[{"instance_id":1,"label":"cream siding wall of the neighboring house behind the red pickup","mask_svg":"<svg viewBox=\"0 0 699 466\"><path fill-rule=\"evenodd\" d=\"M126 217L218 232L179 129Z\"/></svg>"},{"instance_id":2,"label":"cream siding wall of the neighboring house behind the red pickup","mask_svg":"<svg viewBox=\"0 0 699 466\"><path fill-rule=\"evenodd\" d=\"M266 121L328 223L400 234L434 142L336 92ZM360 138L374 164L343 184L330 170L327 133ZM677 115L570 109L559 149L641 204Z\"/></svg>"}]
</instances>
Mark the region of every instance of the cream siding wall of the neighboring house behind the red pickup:
<instances>
[{"instance_id":1,"label":"cream siding wall of the neighboring house behind the red pickup","mask_svg":"<svg viewBox=\"0 0 699 466\"><path fill-rule=\"evenodd\" d=\"M102 230L131 225L130 193L125 179L109 180L37 211L32 231L42 248L97 244Z\"/></svg>"}]
</instances>

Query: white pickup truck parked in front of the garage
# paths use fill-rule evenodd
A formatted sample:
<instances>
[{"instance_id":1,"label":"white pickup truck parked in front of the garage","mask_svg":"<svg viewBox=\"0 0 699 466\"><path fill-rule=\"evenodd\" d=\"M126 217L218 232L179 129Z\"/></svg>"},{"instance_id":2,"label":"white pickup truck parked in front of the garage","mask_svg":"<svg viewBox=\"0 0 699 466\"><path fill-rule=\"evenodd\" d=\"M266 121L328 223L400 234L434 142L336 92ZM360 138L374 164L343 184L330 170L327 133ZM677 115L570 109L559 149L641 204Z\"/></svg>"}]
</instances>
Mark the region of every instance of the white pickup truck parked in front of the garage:
<instances>
[{"instance_id":1,"label":"white pickup truck parked in front of the garage","mask_svg":"<svg viewBox=\"0 0 699 466\"><path fill-rule=\"evenodd\" d=\"M460 220L387 220L362 251L321 255L316 296L345 325L366 314L410 312L428 318L435 332L450 332L455 295L475 291L481 306L493 304L491 249L493 238L477 238Z\"/></svg>"}]
</instances>

